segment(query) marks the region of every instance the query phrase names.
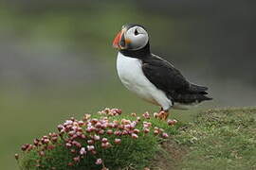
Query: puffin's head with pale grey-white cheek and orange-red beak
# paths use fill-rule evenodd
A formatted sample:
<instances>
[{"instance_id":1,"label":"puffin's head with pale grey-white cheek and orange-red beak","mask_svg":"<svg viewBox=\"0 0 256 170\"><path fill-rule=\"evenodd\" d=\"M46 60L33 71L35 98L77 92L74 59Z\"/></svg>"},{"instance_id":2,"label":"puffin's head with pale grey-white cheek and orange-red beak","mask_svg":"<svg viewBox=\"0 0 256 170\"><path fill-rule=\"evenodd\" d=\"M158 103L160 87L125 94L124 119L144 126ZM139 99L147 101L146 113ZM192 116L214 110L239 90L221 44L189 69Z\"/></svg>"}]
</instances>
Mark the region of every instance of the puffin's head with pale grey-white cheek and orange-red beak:
<instances>
[{"instance_id":1,"label":"puffin's head with pale grey-white cheek and orange-red beak","mask_svg":"<svg viewBox=\"0 0 256 170\"><path fill-rule=\"evenodd\" d=\"M144 26L127 24L121 27L113 47L119 50L138 50L149 42L149 35Z\"/></svg>"}]
</instances>

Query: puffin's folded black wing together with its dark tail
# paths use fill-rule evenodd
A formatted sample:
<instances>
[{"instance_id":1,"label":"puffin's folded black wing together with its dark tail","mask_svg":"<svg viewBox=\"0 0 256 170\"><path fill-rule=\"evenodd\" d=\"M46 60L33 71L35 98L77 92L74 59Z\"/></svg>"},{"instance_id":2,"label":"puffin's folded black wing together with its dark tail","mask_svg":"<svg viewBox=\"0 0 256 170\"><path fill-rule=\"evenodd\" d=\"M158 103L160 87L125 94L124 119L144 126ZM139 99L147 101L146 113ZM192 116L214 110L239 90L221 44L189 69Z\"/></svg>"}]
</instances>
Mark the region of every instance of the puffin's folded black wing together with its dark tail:
<instances>
[{"instance_id":1,"label":"puffin's folded black wing together with its dark tail","mask_svg":"<svg viewBox=\"0 0 256 170\"><path fill-rule=\"evenodd\" d=\"M155 87L167 93L173 101L192 103L211 99L205 96L207 87L190 83L165 59L154 55L151 58L143 59L142 70Z\"/></svg>"}]
</instances>

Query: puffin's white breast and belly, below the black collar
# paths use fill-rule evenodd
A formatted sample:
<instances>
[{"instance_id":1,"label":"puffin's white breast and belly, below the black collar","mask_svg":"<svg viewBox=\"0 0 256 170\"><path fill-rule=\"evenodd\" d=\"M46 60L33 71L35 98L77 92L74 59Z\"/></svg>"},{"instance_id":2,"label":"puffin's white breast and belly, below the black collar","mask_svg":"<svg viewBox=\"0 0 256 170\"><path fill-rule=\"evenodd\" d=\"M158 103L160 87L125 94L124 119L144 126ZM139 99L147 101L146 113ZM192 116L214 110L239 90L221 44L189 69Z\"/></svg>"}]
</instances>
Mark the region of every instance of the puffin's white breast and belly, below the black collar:
<instances>
[{"instance_id":1,"label":"puffin's white breast and belly, below the black collar","mask_svg":"<svg viewBox=\"0 0 256 170\"><path fill-rule=\"evenodd\" d=\"M122 84L139 97L169 110L172 106L171 100L143 74L141 65L140 59L125 57L119 53L117 70Z\"/></svg>"}]
</instances>

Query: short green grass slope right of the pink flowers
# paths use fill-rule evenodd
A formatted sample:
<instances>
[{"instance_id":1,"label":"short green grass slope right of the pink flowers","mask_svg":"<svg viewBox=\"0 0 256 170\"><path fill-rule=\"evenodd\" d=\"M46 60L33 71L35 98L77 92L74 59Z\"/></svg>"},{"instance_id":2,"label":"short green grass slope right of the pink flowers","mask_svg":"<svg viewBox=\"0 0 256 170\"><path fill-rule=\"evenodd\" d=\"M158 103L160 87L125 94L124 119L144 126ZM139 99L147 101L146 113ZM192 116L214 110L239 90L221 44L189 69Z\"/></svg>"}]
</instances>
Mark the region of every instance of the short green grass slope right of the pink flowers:
<instances>
[{"instance_id":1,"label":"short green grass slope right of the pink flowers","mask_svg":"<svg viewBox=\"0 0 256 170\"><path fill-rule=\"evenodd\" d=\"M256 169L255 132L256 109L202 111L174 137L186 148L175 169Z\"/></svg>"}]
</instances>

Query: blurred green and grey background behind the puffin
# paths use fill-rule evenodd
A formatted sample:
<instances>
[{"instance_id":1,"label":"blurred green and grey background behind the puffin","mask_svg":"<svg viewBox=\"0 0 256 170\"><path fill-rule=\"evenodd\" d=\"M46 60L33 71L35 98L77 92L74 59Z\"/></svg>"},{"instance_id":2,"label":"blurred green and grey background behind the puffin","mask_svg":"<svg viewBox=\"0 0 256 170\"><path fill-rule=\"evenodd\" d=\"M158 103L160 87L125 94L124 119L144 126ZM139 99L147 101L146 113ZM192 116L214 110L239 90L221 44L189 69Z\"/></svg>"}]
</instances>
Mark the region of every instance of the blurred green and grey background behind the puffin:
<instances>
[{"instance_id":1,"label":"blurred green and grey background behind the puffin","mask_svg":"<svg viewBox=\"0 0 256 170\"><path fill-rule=\"evenodd\" d=\"M116 72L112 41L126 23L146 26L152 51L213 102L196 110L255 106L254 1L12 0L0 2L0 168L18 169L14 153L70 116L105 107L125 112L157 107L129 93Z\"/></svg>"}]
</instances>

